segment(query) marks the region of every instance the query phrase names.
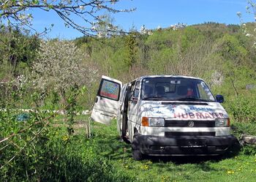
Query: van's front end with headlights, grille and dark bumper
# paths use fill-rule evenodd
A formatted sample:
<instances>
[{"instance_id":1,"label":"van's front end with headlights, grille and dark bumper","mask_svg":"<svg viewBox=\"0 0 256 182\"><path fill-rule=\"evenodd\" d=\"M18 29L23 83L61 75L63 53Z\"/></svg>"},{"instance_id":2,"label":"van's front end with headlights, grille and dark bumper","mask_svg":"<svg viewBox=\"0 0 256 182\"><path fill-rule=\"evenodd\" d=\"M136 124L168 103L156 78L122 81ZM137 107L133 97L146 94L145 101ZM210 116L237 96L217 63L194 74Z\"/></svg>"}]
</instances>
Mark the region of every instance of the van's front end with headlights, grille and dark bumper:
<instances>
[{"instance_id":1,"label":"van's front end with headlights, grille and dark bumper","mask_svg":"<svg viewBox=\"0 0 256 182\"><path fill-rule=\"evenodd\" d=\"M140 152L149 156L221 155L236 142L229 119L168 120L142 118Z\"/></svg>"}]
</instances>

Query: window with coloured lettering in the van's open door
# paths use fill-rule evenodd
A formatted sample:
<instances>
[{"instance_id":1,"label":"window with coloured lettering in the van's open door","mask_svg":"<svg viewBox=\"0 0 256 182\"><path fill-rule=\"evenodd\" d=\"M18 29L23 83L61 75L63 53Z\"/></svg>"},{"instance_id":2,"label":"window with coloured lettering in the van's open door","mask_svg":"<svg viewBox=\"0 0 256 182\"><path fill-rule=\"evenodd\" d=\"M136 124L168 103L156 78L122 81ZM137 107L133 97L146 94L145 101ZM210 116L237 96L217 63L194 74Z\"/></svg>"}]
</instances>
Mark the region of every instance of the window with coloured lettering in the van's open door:
<instances>
[{"instance_id":1,"label":"window with coloured lettering in the van's open door","mask_svg":"<svg viewBox=\"0 0 256 182\"><path fill-rule=\"evenodd\" d=\"M119 100L120 84L110 80L102 80L99 86L98 96Z\"/></svg>"}]
</instances>

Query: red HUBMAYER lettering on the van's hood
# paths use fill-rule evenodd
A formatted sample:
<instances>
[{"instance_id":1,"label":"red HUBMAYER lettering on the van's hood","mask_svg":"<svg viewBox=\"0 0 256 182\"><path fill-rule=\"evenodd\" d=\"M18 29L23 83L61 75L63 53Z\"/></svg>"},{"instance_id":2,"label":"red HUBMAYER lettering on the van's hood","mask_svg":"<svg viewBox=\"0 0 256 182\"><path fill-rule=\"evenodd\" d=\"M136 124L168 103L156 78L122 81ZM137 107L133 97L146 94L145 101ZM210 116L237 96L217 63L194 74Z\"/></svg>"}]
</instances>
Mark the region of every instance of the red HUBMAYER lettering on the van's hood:
<instances>
[{"instance_id":1,"label":"red HUBMAYER lettering on the van's hood","mask_svg":"<svg viewBox=\"0 0 256 182\"><path fill-rule=\"evenodd\" d=\"M214 118L225 118L225 116L223 113L173 113L173 118L214 119Z\"/></svg>"}]
</instances>

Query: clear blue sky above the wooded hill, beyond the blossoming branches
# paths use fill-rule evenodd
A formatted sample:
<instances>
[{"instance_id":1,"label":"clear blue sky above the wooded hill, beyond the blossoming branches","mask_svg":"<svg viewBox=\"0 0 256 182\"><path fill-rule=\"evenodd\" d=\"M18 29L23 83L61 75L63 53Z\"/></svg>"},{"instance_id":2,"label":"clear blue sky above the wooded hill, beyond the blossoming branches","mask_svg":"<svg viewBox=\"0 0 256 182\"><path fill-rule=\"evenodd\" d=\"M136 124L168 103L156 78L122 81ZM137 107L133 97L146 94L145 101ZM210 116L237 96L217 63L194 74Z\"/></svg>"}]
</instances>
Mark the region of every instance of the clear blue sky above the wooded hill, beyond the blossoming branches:
<instances>
[{"instance_id":1,"label":"clear blue sky above the wooded hill, beyond the blossoming branches","mask_svg":"<svg viewBox=\"0 0 256 182\"><path fill-rule=\"evenodd\" d=\"M246 13L246 0L121 0L117 8L137 8L135 12L122 12L113 15L115 23L125 30L132 26L140 29L145 25L147 29L156 29L186 23L187 25L217 22L239 24L236 12L241 12L245 22L253 21L253 16ZM43 30L54 24L49 38L74 39L83 36L78 31L65 28L62 20L53 12L33 11L34 28Z\"/></svg>"}]
</instances>

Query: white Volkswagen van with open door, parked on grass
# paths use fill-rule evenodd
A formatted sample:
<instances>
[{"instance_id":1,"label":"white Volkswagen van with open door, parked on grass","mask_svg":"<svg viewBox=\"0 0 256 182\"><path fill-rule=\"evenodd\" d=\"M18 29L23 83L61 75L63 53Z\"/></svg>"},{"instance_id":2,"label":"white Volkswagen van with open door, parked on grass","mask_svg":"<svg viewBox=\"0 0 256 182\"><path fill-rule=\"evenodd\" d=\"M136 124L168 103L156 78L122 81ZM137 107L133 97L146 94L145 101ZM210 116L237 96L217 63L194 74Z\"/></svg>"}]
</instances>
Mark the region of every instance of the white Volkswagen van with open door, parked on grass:
<instances>
[{"instance_id":1,"label":"white Volkswagen van with open door, parked on grass","mask_svg":"<svg viewBox=\"0 0 256 182\"><path fill-rule=\"evenodd\" d=\"M236 137L230 118L206 83L197 77L152 75L132 82L102 76L91 118L110 124L132 143L136 160L144 155L187 156L225 153Z\"/></svg>"}]
</instances>

